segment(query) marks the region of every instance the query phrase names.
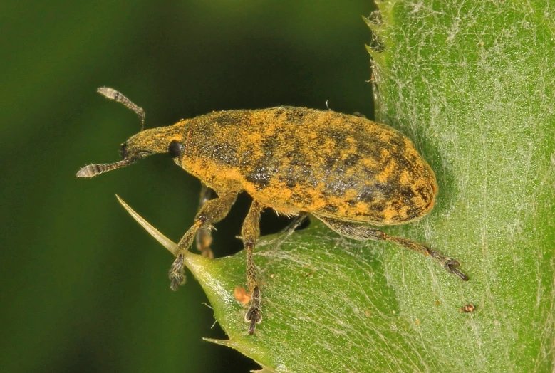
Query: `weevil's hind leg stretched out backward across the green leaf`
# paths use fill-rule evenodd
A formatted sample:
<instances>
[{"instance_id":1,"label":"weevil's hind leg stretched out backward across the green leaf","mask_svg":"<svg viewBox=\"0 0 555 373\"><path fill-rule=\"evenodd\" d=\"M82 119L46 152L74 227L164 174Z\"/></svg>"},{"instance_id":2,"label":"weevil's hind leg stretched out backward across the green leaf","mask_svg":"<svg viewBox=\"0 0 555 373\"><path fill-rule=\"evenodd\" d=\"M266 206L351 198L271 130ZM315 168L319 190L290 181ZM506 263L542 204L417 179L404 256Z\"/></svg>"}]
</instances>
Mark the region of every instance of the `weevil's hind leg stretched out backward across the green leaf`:
<instances>
[{"instance_id":1,"label":"weevil's hind leg stretched out backward across the green leaf","mask_svg":"<svg viewBox=\"0 0 555 373\"><path fill-rule=\"evenodd\" d=\"M370 228L364 224L356 224L348 221L340 221L336 219L328 218L327 216L316 216L318 219L323 221L326 226L328 226L332 231L336 231L348 238L353 238L359 241L365 240L376 240L376 241L390 241L396 243L399 246L408 248L409 250L416 251L425 256L431 256L436 261L438 261L445 270L449 273L454 273L459 276L461 280L467 281L468 276L458 268L460 266L459 261L454 258L442 255L439 251L435 251L432 248L428 248L422 243L417 243L415 241L410 241L407 238L398 236L389 236L379 229Z\"/></svg>"}]
</instances>

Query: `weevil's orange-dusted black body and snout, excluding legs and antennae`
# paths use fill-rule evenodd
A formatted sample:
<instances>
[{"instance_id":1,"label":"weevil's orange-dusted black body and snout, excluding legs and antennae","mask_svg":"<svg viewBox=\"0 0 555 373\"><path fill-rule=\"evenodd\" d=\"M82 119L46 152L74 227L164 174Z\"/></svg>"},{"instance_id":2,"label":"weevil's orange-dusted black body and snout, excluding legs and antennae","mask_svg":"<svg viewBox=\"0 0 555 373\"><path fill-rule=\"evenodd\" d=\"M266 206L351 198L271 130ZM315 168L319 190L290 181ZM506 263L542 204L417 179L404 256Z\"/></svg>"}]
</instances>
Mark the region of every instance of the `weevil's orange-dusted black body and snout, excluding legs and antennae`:
<instances>
[{"instance_id":1,"label":"weevil's orange-dusted black body and snout, excluding legs and antennae","mask_svg":"<svg viewBox=\"0 0 555 373\"><path fill-rule=\"evenodd\" d=\"M427 214L437 184L413 142L364 117L304 107L212 112L139 132L183 147L175 162L217 193L247 191L284 214L301 211L373 225ZM158 141L159 142L159 141Z\"/></svg>"}]
</instances>

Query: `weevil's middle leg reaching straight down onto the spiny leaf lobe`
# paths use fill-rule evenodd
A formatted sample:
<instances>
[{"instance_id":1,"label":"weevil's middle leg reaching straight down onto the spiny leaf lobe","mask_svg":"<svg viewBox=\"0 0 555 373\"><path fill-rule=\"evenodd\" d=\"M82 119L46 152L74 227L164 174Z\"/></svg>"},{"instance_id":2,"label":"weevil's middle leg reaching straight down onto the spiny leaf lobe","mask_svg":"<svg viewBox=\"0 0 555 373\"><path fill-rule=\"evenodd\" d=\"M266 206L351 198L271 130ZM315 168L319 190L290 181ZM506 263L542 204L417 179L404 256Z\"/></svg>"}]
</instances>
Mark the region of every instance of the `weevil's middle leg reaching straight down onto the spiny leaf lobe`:
<instances>
[{"instance_id":1,"label":"weevil's middle leg reaching straight down onto the spiny leaf lobe","mask_svg":"<svg viewBox=\"0 0 555 373\"><path fill-rule=\"evenodd\" d=\"M256 266L252 258L252 251L256 245L256 239L260 236L260 213L264 207L257 201L252 201L249 213L243 222L241 236L243 245L247 251L247 284L251 292L251 303L245 314L245 321L249 322L249 334L254 333L256 324L262 321L261 297L258 281L256 280Z\"/></svg>"}]
</instances>

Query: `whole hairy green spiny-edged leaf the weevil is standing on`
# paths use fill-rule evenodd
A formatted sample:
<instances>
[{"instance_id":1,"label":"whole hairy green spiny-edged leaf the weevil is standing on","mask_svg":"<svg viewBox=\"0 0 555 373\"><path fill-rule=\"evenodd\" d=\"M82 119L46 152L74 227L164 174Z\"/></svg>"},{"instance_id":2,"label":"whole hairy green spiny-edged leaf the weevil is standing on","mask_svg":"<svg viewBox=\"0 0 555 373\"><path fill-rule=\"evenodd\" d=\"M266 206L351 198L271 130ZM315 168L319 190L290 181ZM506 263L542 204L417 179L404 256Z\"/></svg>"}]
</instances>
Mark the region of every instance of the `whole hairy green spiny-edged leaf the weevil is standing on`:
<instances>
[{"instance_id":1,"label":"whole hairy green spiny-edged leaf the weevil is standing on","mask_svg":"<svg viewBox=\"0 0 555 373\"><path fill-rule=\"evenodd\" d=\"M313 221L259 241L264 320L252 336L234 297L247 287L244 253L187 256L229 335L217 342L264 372L551 372L555 9L425 0L380 11L368 21L378 121L415 142L440 186L429 216L384 230L459 259L470 281ZM476 310L460 312L467 303Z\"/></svg>"}]
</instances>

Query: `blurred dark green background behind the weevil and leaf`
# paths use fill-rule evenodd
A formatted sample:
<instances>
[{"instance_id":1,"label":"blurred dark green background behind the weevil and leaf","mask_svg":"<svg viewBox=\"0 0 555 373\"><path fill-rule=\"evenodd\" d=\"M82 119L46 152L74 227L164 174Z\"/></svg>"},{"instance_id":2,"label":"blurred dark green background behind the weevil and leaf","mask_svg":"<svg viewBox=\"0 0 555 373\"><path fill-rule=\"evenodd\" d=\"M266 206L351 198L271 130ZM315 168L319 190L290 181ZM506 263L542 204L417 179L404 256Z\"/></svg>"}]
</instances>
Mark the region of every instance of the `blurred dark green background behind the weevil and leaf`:
<instances>
[{"instance_id":1,"label":"blurred dark green background behind the weevil and leaf","mask_svg":"<svg viewBox=\"0 0 555 373\"><path fill-rule=\"evenodd\" d=\"M11 4L10 4L11 3ZM95 89L120 90L147 127L212 110L295 105L372 116L371 35L356 1L51 1L0 5L1 372L247 372L191 276L118 193L177 241L199 182L169 157L94 179L140 130ZM241 249L247 197L217 224L214 252ZM285 224L266 212L263 233ZM286 341L284 341L286 342Z\"/></svg>"}]
</instances>

